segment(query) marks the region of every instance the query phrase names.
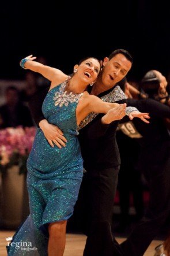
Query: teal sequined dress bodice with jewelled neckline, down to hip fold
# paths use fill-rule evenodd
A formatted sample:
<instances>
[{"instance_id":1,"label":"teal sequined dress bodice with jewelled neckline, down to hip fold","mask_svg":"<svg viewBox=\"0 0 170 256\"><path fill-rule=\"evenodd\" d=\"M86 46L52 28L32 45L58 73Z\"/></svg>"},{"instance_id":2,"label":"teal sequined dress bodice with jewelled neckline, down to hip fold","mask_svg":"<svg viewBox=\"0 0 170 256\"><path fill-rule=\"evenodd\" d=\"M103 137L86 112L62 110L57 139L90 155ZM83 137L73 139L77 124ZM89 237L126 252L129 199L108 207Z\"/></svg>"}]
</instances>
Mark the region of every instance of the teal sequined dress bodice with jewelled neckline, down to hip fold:
<instances>
[{"instance_id":1,"label":"teal sequined dress bodice with jewelled neckline, down to hip fold","mask_svg":"<svg viewBox=\"0 0 170 256\"><path fill-rule=\"evenodd\" d=\"M43 131L37 128L35 140L28 158L28 165L34 169L33 175L46 179L63 175L69 168L81 166L82 157L77 139L76 108L82 94L67 94L66 81L52 88L44 99L42 110L48 123L57 125L67 139L66 147L52 148Z\"/></svg>"}]
</instances>

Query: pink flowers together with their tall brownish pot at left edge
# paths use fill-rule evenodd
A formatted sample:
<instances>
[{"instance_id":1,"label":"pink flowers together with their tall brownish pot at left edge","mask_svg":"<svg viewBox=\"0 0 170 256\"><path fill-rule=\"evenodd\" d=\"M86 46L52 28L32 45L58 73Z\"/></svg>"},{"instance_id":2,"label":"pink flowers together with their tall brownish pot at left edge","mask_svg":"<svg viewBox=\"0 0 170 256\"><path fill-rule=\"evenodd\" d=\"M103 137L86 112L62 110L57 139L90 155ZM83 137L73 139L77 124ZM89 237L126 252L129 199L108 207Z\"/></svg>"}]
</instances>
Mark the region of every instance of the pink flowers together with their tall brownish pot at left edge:
<instances>
[{"instance_id":1,"label":"pink flowers together with their tall brownish pot at left edge","mask_svg":"<svg viewBox=\"0 0 170 256\"><path fill-rule=\"evenodd\" d=\"M2 225L16 228L29 213L27 158L35 138L35 127L0 130L0 172L2 174Z\"/></svg>"}]
</instances>

